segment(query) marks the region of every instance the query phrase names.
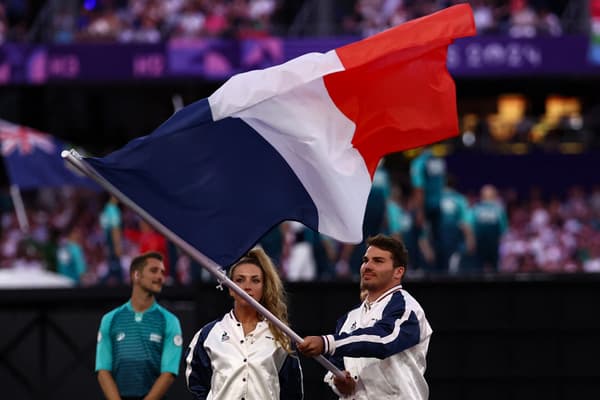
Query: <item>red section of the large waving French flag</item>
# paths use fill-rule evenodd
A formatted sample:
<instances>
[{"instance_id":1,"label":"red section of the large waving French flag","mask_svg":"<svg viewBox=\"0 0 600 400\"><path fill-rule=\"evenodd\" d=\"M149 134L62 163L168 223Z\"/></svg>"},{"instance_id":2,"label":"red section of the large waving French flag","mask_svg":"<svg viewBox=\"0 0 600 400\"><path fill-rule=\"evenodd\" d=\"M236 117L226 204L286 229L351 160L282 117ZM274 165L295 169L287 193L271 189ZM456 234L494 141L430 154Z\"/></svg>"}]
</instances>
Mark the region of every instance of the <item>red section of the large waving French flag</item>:
<instances>
[{"instance_id":1,"label":"red section of the large waving French flag","mask_svg":"<svg viewBox=\"0 0 600 400\"><path fill-rule=\"evenodd\" d=\"M346 70L325 85L356 123L352 144L371 176L386 154L458 133L446 52L453 39L474 34L471 7L461 4L336 50Z\"/></svg>"}]
</instances>

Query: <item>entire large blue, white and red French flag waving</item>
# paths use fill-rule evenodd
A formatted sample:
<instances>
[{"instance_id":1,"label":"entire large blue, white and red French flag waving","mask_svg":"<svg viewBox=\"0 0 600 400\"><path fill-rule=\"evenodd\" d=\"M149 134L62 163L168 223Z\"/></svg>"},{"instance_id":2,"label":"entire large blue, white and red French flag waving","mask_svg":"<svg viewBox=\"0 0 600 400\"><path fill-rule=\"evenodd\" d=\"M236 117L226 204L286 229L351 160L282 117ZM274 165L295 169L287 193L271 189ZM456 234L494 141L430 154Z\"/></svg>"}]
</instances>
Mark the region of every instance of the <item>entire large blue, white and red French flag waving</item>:
<instances>
[{"instance_id":1,"label":"entire large blue, white and red French flag waving","mask_svg":"<svg viewBox=\"0 0 600 400\"><path fill-rule=\"evenodd\" d=\"M458 133L447 47L466 4L329 51L233 76L96 171L220 265L297 220L362 240L377 163Z\"/></svg>"}]
</instances>

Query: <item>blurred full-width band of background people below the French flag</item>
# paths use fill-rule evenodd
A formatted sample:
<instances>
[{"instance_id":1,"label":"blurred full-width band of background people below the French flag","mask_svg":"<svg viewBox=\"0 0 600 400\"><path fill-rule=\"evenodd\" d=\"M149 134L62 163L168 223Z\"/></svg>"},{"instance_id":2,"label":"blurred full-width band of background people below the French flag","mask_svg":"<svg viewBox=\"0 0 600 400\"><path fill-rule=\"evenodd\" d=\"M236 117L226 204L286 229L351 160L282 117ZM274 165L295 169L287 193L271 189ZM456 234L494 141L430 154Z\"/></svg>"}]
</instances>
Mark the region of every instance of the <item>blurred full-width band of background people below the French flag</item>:
<instances>
[{"instance_id":1,"label":"blurred full-width band of background people below the French flag","mask_svg":"<svg viewBox=\"0 0 600 400\"><path fill-rule=\"evenodd\" d=\"M403 175L402 175L403 174ZM410 182L410 183L407 183ZM564 197L528 198L485 185L460 193L445 160L427 149L410 171L374 177L364 236L401 238L412 276L481 273L600 272L600 186L572 187ZM81 286L126 283L132 257L166 256L167 283L211 280L208 273L105 193L64 187L23 193L26 232L0 197L0 268L50 270ZM338 243L296 222L260 241L287 281L356 280L364 243Z\"/></svg>"}]
</instances>

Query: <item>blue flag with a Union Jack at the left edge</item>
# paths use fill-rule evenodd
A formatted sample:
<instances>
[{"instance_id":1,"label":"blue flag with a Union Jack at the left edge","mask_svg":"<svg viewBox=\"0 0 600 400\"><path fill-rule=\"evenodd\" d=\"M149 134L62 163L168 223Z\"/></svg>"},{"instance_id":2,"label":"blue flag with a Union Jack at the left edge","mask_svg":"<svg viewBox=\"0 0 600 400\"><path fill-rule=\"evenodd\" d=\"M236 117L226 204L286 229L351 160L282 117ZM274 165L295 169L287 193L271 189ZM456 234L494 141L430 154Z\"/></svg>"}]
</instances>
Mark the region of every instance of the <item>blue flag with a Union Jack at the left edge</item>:
<instances>
[{"instance_id":1,"label":"blue flag with a Union Jack at the left edge","mask_svg":"<svg viewBox=\"0 0 600 400\"><path fill-rule=\"evenodd\" d=\"M56 186L97 186L67 168L57 138L26 126L0 120L0 152L11 184L20 189Z\"/></svg>"}]
</instances>

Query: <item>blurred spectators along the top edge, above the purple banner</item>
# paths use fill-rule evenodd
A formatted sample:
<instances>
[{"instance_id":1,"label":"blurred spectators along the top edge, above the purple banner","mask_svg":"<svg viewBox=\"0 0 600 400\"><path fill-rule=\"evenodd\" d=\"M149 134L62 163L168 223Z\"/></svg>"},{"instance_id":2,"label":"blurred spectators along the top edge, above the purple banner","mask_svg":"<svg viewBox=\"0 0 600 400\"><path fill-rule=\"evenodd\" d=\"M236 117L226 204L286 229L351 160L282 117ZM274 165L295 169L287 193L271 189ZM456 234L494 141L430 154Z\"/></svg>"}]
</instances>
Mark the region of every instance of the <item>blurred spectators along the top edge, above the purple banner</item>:
<instances>
[{"instance_id":1,"label":"blurred spectators along the top edge, above the purple banner","mask_svg":"<svg viewBox=\"0 0 600 400\"><path fill-rule=\"evenodd\" d=\"M0 1L0 43L141 42L294 34L298 18L328 19L329 34L368 36L459 0L35 0ZM587 32L585 2L471 0L480 34L513 37ZM582 3L573 6L571 3ZM327 11L327 12L326 12ZM326 13L319 14L319 13ZM305 18L306 19L306 18ZM307 24L310 25L307 19ZM567 22L565 22L567 21ZM316 24L315 24L316 25ZM323 25L323 24L321 24ZM316 28L303 30L317 36Z\"/></svg>"}]
</instances>

